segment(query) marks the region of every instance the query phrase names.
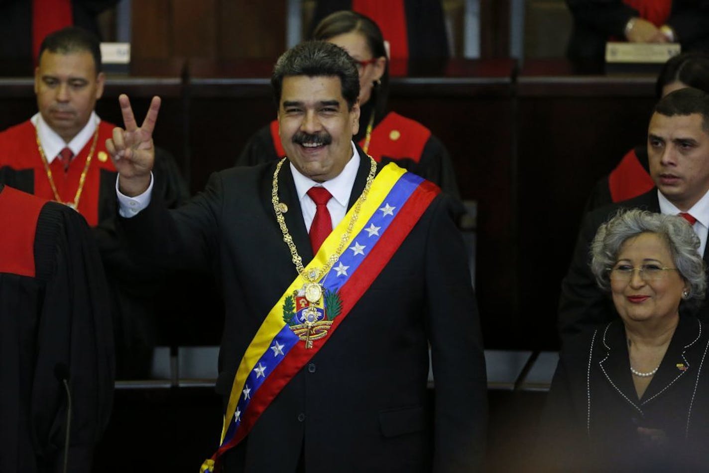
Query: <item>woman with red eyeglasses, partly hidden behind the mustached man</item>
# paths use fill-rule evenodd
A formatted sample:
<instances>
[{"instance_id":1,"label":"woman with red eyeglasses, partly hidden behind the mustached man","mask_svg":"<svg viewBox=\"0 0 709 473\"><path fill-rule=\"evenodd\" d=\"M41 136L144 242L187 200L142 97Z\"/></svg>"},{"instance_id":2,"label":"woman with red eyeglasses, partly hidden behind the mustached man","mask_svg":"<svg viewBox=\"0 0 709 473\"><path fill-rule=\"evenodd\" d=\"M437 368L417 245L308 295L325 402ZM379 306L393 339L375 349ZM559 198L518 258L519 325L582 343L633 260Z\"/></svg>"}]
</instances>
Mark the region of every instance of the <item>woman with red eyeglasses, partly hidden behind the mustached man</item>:
<instances>
[{"instance_id":1,"label":"woman with red eyeglasses, partly hidden behind the mustached man","mask_svg":"<svg viewBox=\"0 0 709 473\"><path fill-rule=\"evenodd\" d=\"M395 161L459 200L452 161L440 140L419 122L387 110L389 61L376 23L360 13L337 11L320 21L313 39L333 42L357 62L361 113L354 142L376 161ZM274 120L249 140L236 165L252 166L284 155Z\"/></svg>"}]
</instances>

